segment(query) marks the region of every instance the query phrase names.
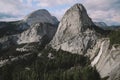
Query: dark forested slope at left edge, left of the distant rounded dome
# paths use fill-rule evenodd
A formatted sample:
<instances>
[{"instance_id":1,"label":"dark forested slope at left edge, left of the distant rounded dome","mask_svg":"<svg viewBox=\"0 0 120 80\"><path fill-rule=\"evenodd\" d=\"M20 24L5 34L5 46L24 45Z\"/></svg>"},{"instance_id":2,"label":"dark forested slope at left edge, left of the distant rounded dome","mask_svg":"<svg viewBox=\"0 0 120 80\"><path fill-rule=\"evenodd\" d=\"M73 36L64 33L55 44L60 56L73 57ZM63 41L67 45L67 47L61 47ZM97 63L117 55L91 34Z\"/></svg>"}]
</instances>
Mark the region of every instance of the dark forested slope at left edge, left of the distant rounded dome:
<instances>
[{"instance_id":1,"label":"dark forested slope at left edge, left of the distant rounded dome","mask_svg":"<svg viewBox=\"0 0 120 80\"><path fill-rule=\"evenodd\" d=\"M0 37L21 33L24 30L20 30L19 27L24 25L28 26L27 23L21 21L0 22L0 26L3 26L0 28Z\"/></svg>"}]
</instances>

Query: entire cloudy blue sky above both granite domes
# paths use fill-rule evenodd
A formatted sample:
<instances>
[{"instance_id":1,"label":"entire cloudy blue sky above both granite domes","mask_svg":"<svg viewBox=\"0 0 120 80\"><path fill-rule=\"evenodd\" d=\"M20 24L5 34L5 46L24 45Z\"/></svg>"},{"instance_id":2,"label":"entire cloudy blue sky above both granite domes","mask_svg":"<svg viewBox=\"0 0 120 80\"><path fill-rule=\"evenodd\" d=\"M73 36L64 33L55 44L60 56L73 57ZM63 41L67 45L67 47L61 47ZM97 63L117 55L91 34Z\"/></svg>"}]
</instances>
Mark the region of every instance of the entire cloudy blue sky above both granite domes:
<instances>
[{"instance_id":1,"label":"entire cloudy blue sky above both granite domes","mask_svg":"<svg viewBox=\"0 0 120 80\"><path fill-rule=\"evenodd\" d=\"M75 3L83 4L94 22L120 25L120 0L0 0L0 21L20 20L38 9L47 9L61 20Z\"/></svg>"}]
</instances>

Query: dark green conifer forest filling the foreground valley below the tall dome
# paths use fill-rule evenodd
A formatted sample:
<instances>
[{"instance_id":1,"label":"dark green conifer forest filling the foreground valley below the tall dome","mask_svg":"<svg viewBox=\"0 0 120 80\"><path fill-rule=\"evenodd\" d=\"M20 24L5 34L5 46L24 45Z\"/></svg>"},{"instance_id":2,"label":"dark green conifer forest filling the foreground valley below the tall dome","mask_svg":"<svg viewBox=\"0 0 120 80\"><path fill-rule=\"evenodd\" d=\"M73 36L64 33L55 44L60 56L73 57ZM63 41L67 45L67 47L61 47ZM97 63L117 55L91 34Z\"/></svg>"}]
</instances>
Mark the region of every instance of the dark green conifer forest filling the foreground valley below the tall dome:
<instances>
[{"instance_id":1,"label":"dark green conifer forest filling the foreground valley below the tall dome","mask_svg":"<svg viewBox=\"0 0 120 80\"><path fill-rule=\"evenodd\" d=\"M14 64L3 67L0 70L3 80L8 80L8 75L9 80L100 80L98 72L90 66L87 57L51 48L40 53L41 56L35 57L29 65L24 62L23 66ZM48 57L50 53L52 58Z\"/></svg>"}]
</instances>

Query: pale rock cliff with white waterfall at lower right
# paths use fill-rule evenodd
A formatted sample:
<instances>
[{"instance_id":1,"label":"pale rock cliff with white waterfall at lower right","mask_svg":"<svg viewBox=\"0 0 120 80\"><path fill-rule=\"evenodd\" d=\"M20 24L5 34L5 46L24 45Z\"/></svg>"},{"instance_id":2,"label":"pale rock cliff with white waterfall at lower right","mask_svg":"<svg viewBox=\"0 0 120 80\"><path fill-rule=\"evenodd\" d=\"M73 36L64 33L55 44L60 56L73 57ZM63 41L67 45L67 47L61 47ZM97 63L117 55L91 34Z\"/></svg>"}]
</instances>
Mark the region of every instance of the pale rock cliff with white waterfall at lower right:
<instances>
[{"instance_id":1,"label":"pale rock cliff with white waterfall at lower right","mask_svg":"<svg viewBox=\"0 0 120 80\"><path fill-rule=\"evenodd\" d=\"M109 76L108 80L119 80L120 45L110 46L110 40L105 38L99 42L100 44L94 47L97 55L91 62L92 66L96 66L101 77Z\"/></svg>"}]
</instances>

